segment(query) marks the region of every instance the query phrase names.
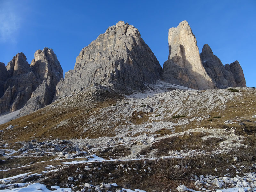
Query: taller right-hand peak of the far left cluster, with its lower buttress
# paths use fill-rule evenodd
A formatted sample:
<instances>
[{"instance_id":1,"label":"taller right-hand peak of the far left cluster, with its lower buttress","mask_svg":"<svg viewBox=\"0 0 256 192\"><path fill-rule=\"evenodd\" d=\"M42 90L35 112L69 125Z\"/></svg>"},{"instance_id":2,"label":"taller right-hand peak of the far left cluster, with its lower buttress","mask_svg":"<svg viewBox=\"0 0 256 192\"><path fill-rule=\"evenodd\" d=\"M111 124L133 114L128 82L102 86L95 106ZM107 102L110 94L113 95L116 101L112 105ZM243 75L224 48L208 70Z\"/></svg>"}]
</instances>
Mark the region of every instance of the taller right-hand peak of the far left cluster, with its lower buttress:
<instances>
[{"instance_id":1,"label":"taller right-hand peak of the far left cluster, with its lower buttress","mask_svg":"<svg viewBox=\"0 0 256 192\"><path fill-rule=\"evenodd\" d=\"M41 84L21 109L20 115L26 115L51 104L56 85L63 78L60 62L52 49L37 50L30 66Z\"/></svg>"}]
</instances>

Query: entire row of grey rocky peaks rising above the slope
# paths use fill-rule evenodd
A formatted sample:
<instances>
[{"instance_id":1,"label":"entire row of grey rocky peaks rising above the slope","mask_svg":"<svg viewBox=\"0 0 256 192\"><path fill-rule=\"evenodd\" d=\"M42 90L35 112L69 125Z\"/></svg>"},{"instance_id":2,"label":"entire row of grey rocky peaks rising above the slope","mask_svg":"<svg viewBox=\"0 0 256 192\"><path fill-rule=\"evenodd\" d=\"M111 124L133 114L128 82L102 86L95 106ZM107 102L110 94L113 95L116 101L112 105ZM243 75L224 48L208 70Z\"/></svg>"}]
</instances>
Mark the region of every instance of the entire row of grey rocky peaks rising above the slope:
<instances>
[{"instance_id":1,"label":"entire row of grey rocky peaks rising above the slope","mask_svg":"<svg viewBox=\"0 0 256 192\"><path fill-rule=\"evenodd\" d=\"M0 63L0 114L21 109L23 116L98 85L121 94L154 87L159 80L197 90L246 86L238 61L223 66L207 44L199 55L187 21L169 29L168 42L169 56L162 69L138 29L119 21L81 50L65 79L52 49L37 50L30 65L18 53L6 68Z\"/></svg>"}]
</instances>

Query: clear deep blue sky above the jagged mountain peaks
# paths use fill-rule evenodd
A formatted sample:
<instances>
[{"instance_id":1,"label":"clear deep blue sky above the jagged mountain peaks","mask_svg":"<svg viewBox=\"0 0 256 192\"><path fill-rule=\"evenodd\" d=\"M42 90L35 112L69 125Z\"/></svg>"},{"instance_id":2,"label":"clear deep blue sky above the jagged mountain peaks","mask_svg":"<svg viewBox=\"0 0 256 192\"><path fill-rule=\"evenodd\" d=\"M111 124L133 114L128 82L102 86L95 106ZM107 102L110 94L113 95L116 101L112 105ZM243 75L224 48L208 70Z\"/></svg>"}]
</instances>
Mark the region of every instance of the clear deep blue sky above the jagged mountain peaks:
<instances>
[{"instance_id":1,"label":"clear deep blue sky above the jagged mountain peaks","mask_svg":"<svg viewBox=\"0 0 256 192\"><path fill-rule=\"evenodd\" d=\"M52 48L67 72L82 48L123 20L138 28L160 65L168 57L168 29L187 20L199 52L207 43L222 63L238 60L247 86L256 86L256 1L0 0L0 62Z\"/></svg>"}]
</instances>

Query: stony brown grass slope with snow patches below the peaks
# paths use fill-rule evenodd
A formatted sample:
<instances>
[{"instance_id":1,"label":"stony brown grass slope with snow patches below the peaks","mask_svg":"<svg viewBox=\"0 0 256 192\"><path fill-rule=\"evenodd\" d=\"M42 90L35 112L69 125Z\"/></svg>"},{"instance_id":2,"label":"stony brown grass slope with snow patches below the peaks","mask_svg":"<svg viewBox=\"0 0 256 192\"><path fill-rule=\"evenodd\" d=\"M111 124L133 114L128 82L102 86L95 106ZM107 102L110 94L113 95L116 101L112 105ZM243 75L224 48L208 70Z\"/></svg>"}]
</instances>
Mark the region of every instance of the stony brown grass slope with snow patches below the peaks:
<instances>
[{"instance_id":1,"label":"stony brown grass slope with snow patches below the peaks","mask_svg":"<svg viewBox=\"0 0 256 192\"><path fill-rule=\"evenodd\" d=\"M256 90L168 86L86 88L0 125L0 189L254 191Z\"/></svg>"}]
</instances>

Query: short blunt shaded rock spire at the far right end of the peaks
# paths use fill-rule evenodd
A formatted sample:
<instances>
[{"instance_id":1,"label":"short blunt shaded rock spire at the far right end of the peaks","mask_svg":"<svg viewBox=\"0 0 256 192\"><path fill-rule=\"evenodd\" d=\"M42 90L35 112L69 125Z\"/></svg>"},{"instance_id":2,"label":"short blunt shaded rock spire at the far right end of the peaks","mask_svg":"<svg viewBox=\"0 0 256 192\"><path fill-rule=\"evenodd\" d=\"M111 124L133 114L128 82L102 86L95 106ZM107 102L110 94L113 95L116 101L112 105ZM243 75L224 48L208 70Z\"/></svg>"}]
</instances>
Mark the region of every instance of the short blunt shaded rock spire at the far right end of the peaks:
<instances>
[{"instance_id":1,"label":"short blunt shaded rock spire at the far right end of the peaks","mask_svg":"<svg viewBox=\"0 0 256 192\"><path fill-rule=\"evenodd\" d=\"M238 61L235 61L231 64L226 64L225 68L227 71L231 71L238 87L246 87L244 72Z\"/></svg>"}]
</instances>

